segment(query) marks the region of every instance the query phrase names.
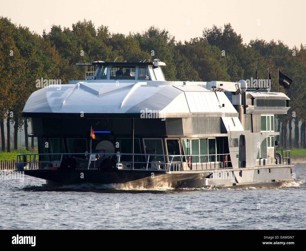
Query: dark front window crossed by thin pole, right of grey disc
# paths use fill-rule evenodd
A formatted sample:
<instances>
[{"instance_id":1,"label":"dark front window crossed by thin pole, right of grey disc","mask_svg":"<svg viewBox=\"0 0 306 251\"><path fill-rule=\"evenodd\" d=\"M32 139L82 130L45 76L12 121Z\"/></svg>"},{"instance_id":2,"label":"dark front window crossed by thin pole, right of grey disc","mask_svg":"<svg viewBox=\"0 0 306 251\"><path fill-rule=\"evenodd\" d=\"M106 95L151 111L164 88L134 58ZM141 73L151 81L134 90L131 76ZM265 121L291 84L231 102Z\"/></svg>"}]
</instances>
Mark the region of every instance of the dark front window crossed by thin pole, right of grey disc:
<instances>
[{"instance_id":1,"label":"dark front window crossed by thin pole, right of grey disc","mask_svg":"<svg viewBox=\"0 0 306 251\"><path fill-rule=\"evenodd\" d=\"M117 139L119 143L119 152L121 153L132 153L132 139L131 138L119 138ZM134 138L134 161L141 162L141 155L135 155L135 153L140 153L140 140L139 138ZM120 161L132 161L132 155L121 155Z\"/></svg>"}]
</instances>

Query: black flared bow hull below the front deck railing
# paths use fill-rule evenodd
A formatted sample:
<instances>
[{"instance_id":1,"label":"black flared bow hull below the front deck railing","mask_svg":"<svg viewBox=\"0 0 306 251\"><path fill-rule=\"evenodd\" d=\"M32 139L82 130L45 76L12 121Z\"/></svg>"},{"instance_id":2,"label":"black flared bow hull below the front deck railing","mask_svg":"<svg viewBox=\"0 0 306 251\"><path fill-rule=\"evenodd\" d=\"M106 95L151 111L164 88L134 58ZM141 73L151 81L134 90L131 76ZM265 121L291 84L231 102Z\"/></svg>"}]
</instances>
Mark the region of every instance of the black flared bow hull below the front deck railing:
<instances>
[{"instance_id":1,"label":"black flared bow hull below the front deck railing","mask_svg":"<svg viewBox=\"0 0 306 251\"><path fill-rule=\"evenodd\" d=\"M199 186L198 183L207 177L205 173L169 173L154 170L117 170L106 171L96 169L84 170L24 170L24 174L59 185L83 183L94 184L126 184L132 187L153 188L168 186L173 188L189 188ZM202 182L200 182L202 184ZM200 185L202 187L202 185Z\"/></svg>"}]
</instances>

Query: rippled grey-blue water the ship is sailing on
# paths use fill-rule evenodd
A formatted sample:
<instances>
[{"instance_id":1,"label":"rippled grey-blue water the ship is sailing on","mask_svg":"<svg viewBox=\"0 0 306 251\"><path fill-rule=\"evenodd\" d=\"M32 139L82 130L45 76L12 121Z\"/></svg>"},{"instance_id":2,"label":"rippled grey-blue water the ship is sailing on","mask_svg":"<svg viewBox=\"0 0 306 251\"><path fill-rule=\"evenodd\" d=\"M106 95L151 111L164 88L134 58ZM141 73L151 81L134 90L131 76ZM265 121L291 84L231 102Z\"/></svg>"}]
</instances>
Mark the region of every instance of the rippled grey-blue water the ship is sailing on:
<instances>
[{"instance_id":1,"label":"rippled grey-blue water the ship is sailing on","mask_svg":"<svg viewBox=\"0 0 306 251\"><path fill-rule=\"evenodd\" d=\"M306 164L276 189L41 187L0 180L0 229L306 229Z\"/></svg>"}]
</instances>

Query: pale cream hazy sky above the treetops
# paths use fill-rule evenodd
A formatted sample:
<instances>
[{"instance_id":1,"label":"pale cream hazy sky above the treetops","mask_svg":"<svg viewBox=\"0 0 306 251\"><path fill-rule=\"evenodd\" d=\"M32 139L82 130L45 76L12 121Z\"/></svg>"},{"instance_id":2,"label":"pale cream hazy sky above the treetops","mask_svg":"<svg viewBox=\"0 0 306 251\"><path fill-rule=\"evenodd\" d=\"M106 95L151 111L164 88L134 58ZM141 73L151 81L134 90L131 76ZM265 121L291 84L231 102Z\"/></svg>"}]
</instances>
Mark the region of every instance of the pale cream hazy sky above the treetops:
<instances>
[{"instance_id":1,"label":"pale cream hazy sky above the treetops","mask_svg":"<svg viewBox=\"0 0 306 251\"><path fill-rule=\"evenodd\" d=\"M305 0L210 0L210 1L65 1L0 0L0 16L11 18L42 34L52 24L70 27L79 20L91 20L95 27L129 34L155 25L175 39L202 36L204 28L231 23L244 43L250 39L282 40L289 47L306 44ZM46 24L46 20L48 24Z\"/></svg>"}]
</instances>

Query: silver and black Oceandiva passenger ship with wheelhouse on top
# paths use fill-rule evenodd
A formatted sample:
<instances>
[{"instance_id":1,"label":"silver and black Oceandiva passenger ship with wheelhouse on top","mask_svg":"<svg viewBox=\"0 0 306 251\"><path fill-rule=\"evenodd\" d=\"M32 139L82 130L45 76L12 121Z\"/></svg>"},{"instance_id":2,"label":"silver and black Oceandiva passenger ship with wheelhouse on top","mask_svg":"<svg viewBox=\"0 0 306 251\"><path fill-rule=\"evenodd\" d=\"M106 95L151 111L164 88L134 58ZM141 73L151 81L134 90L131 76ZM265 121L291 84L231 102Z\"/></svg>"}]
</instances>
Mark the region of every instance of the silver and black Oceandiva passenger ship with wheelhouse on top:
<instances>
[{"instance_id":1,"label":"silver and black Oceandiva passenger ship with wheelhouse on top","mask_svg":"<svg viewBox=\"0 0 306 251\"><path fill-rule=\"evenodd\" d=\"M289 151L277 150L274 115L284 93L238 82L165 81L164 62L92 62L86 80L34 92L38 154L17 170L48 184L152 188L269 187L291 181Z\"/></svg>"}]
</instances>

